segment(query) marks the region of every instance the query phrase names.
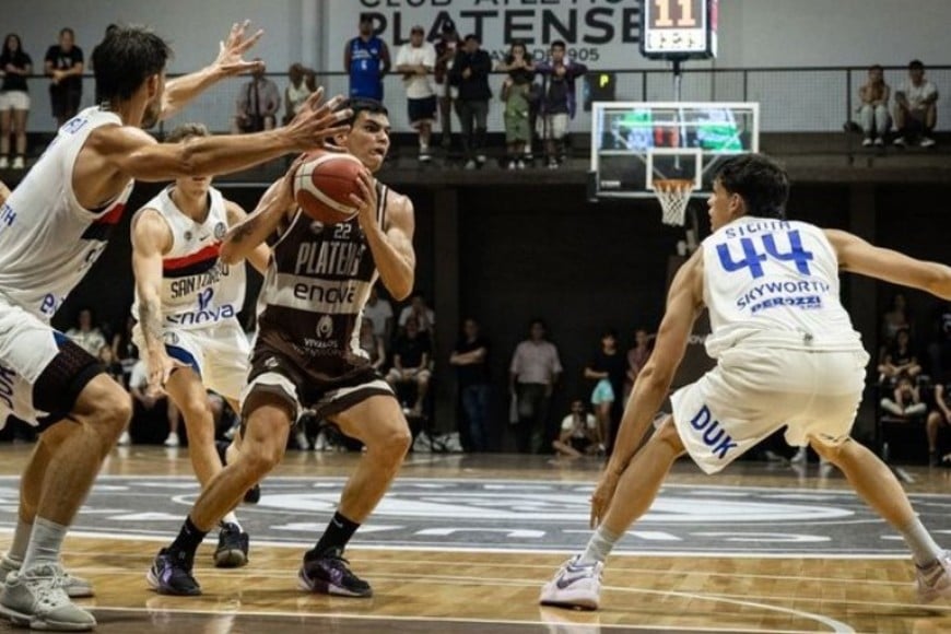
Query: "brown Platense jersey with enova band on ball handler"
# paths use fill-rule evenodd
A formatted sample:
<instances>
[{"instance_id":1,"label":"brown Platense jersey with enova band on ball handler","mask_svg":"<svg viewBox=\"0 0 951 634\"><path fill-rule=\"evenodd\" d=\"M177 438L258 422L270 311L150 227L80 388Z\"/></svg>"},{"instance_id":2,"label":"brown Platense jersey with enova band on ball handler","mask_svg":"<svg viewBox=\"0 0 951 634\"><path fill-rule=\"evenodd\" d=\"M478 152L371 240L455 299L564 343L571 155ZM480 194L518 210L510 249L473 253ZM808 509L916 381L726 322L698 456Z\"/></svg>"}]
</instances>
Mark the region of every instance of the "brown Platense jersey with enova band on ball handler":
<instances>
[{"instance_id":1,"label":"brown Platense jersey with enova band on ball handler","mask_svg":"<svg viewBox=\"0 0 951 634\"><path fill-rule=\"evenodd\" d=\"M377 184L377 221L386 226L387 188ZM360 347L360 320L377 270L357 219L324 225L298 210L272 253L251 377L274 366L274 353L308 391L375 376Z\"/></svg>"}]
</instances>

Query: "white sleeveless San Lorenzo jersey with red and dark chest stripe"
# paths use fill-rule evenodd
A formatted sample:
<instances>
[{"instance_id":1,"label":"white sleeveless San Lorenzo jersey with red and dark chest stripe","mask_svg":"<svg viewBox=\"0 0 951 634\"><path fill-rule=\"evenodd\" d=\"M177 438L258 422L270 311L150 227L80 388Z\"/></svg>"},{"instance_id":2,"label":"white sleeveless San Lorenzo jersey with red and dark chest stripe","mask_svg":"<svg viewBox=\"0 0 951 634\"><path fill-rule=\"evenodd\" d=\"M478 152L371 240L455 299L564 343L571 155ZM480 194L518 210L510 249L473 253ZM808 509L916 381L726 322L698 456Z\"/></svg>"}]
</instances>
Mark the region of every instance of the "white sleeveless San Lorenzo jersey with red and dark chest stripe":
<instances>
[{"instance_id":1,"label":"white sleeveless San Lorenzo jersey with red and dark chest stripe","mask_svg":"<svg viewBox=\"0 0 951 634\"><path fill-rule=\"evenodd\" d=\"M227 232L224 198L218 189L209 189L208 216L196 222L172 200L173 189L166 187L142 207L156 210L172 232L172 249L162 258L163 326L204 328L235 319L245 300L245 262L227 266L219 257ZM138 293L132 316L139 319Z\"/></svg>"}]
</instances>

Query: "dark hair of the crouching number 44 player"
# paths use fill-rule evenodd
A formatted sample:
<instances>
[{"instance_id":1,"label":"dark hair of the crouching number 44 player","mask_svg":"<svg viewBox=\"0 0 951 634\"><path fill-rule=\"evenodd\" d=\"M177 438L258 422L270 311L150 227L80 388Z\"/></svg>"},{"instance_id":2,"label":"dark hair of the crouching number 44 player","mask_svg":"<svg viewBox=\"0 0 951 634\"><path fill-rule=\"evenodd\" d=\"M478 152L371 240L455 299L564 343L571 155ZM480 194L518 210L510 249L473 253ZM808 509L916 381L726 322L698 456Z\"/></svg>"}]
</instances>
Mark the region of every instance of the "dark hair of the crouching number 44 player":
<instances>
[{"instance_id":1,"label":"dark hair of the crouching number 44 player","mask_svg":"<svg viewBox=\"0 0 951 634\"><path fill-rule=\"evenodd\" d=\"M724 189L737 193L747 213L758 218L786 218L789 177L765 154L741 154L727 158L716 175Z\"/></svg>"}]
</instances>

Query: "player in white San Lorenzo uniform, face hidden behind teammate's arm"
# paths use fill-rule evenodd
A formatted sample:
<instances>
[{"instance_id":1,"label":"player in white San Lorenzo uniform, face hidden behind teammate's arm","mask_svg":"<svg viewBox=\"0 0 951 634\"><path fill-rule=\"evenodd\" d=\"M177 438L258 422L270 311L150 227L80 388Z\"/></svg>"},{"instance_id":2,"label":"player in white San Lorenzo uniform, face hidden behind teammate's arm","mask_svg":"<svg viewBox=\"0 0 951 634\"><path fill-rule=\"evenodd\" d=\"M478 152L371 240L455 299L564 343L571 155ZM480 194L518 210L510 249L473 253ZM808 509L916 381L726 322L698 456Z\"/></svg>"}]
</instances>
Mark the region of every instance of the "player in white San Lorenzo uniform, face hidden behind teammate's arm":
<instances>
[{"instance_id":1,"label":"player in white San Lorenzo uniform, face hidden behind teammate's arm","mask_svg":"<svg viewBox=\"0 0 951 634\"><path fill-rule=\"evenodd\" d=\"M200 124L179 126L166 139L178 143L208 137ZM206 388L240 411L238 396L248 375L250 345L237 314L244 305L245 263L220 261L228 226L246 218L236 203L211 187L210 176L187 176L163 189L132 219L132 268L136 345L143 352L153 384L174 372L165 391L185 416L188 454L202 486L221 471L214 444L214 416ZM261 244L248 255L261 274L270 249ZM142 307L158 324L142 325ZM156 338L156 332L162 338ZM184 367L175 367L176 362ZM234 512L221 523L214 565L238 567L248 561L248 535Z\"/></svg>"}]
</instances>

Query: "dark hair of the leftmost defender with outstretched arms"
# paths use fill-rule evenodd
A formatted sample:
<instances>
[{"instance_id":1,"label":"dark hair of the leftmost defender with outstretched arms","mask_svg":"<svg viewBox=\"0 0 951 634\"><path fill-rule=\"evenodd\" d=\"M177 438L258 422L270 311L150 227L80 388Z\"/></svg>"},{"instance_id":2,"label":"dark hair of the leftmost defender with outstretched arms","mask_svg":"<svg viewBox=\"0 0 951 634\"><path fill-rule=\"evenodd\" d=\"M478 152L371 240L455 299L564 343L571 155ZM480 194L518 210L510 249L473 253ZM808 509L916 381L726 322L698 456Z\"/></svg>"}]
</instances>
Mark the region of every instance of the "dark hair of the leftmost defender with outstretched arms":
<instances>
[{"instance_id":1,"label":"dark hair of the leftmost defender with outstretched arms","mask_svg":"<svg viewBox=\"0 0 951 634\"><path fill-rule=\"evenodd\" d=\"M142 26L120 26L93 51L99 101L128 99L142 83L165 69L172 49Z\"/></svg>"}]
</instances>

